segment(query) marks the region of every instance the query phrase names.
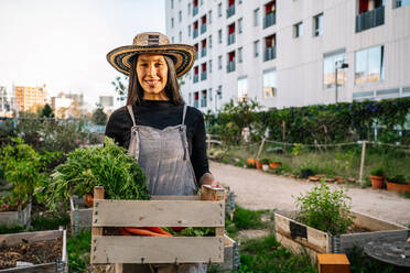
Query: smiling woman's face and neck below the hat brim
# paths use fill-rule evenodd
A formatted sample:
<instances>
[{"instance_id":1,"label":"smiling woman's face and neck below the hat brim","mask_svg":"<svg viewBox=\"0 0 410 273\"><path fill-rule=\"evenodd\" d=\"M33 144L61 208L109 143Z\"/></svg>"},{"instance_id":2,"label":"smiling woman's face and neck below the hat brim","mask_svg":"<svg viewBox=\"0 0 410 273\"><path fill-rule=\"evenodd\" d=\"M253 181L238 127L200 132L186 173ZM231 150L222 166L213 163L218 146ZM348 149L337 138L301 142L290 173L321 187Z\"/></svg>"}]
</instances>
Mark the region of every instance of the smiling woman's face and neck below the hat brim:
<instances>
[{"instance_id":1,"label":"smiling woman's face and neck below the hat brim","mask_svg":"<svg viewBox=\"0 0 410 273\"><path fill-rule=\"evenodd\" d=\"M140 55L137 62L137 75L144 90L144 99L166 99L168 65L163 55Z\"/></svg>"}]
</instances>

